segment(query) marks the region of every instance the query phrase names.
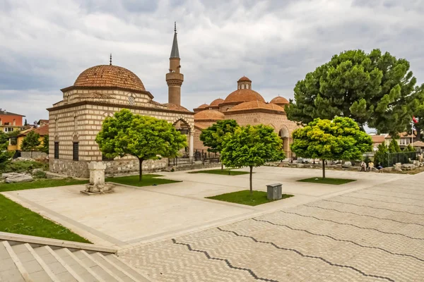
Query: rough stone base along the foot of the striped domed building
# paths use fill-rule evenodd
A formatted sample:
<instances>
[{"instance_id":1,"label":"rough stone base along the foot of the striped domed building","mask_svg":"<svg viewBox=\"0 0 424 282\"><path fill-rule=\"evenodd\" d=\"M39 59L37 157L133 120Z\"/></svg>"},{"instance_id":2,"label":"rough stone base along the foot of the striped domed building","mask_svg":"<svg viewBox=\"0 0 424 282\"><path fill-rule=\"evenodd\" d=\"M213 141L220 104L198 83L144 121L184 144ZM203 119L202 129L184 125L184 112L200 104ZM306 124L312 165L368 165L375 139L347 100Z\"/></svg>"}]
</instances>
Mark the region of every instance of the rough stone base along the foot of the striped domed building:
<instances>
[{"instance_id":1,"label":"rough stone base along the foot of the striped domed building","mask_svg":"<svg viewBox=\"0 0 424 282\"><path fill-rule=\"evenodd\" d=\"M54 173L88 178L90 171L88 164L90 161L71 161L65 159L49 159L49 169ZM104 161L106 164L105 176L121 176L126 174L139 173L138 159L117 159L115 161ZM168 165L168 159L143 161L143 173L161 171Z\"/></svg>"}]
</instances>

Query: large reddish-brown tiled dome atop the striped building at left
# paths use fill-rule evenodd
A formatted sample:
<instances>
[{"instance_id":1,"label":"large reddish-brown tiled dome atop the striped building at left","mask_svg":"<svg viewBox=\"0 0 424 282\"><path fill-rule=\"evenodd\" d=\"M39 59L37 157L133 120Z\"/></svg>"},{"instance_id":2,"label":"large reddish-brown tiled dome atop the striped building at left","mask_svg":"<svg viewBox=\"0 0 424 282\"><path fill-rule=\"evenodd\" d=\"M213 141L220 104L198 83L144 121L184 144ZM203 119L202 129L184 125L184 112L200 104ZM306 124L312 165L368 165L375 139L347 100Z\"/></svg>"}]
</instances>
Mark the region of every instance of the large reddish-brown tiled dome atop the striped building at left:
<instances>
[{"instance_id":1,"label":"large reddish-brown tiled dome atop the striped building at left","mask_svg":"<svg viewBox=\"0 0 424 282\"><path fill-rule=\"evenodd\" d=\"M120 87L127 90L146 91L143 82L132 71L120 66L100 65L87 68L73 86L79 87Z\"/></svg>"}]
</instances>

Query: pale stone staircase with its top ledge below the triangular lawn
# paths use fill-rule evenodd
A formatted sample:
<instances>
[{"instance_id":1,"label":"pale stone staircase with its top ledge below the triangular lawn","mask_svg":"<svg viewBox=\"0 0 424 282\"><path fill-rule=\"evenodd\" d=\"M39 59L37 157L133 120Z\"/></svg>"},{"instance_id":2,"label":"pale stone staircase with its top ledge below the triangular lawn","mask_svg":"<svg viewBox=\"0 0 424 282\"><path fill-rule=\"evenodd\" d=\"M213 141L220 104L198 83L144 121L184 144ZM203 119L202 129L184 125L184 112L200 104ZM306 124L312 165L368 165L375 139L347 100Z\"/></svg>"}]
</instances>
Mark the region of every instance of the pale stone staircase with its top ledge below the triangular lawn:
<instances>
[{"instance_id":1,"label":"pale stone staircase with its top ledge below the triangular lawn","mask_svg":"<svg viewBox=\"0 0 424 282\"><path fill-rule=\"evenodd\" d=\"M90 244L0 233L0 281L151 281L114 252Z\"/></svg>"}]
</instances>

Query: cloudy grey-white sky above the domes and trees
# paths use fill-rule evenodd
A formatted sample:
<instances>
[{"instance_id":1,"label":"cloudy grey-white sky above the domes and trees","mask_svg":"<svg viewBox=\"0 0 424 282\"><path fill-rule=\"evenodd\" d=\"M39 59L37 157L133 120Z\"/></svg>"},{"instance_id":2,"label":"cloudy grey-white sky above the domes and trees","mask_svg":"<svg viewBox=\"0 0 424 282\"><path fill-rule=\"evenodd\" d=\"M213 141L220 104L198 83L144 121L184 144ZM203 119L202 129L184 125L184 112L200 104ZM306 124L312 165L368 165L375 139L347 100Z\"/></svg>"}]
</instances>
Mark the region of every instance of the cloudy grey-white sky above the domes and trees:
<instances>
[{"instance_id":1,"label":"cloudy grey-white sky above the domes and trees","mask_svg":"<svg viewBox=\"0 0 424 282\"><path fill-rule=\"evenodd\" d=\"M0 0L0 108L48 118L90 66L123 66L167 102L174 21L182 105L225 98L246 75L269 101L346 49L408 59L424 82L424 0Z\"/></svg>"}]
</instances>

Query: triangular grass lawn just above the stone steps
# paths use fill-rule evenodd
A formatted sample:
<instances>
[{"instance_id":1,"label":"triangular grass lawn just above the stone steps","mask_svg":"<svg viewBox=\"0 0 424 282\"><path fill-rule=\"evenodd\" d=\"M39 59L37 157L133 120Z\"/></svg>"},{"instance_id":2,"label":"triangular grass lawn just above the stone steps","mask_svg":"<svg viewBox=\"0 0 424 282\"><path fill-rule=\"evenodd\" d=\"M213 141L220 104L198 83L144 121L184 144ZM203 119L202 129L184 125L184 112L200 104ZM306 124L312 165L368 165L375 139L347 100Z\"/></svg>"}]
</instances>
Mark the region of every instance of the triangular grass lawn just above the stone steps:
<instances>
[{"instance_id":1,"label":"triangular grass lawn just above the stone steps","mask_svg":"<svg viewBox=\"0 0 424 282\"><path fill-rule=\"evenodd\" d=\"M23 235L40 236L59 240L90 243L53 221L49 221L30 209L0 195L0 231Z\"/></svg>"}]
</instances>

